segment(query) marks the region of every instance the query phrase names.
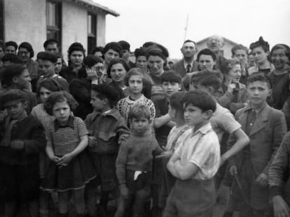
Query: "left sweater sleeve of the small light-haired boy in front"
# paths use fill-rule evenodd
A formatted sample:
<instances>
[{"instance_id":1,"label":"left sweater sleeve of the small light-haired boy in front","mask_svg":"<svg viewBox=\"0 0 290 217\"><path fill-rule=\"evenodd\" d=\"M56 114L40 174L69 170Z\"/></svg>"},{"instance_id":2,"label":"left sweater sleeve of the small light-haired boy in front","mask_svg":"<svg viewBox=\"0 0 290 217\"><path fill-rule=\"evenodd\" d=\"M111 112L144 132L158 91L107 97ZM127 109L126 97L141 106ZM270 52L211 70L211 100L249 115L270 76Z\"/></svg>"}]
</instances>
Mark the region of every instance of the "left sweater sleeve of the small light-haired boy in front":
<instances>
[{"instance_id":1,"label":"left sweater sleeve of the small light-haired boy in front","mask_svg":"<svg viewBox=\"0 0 290 217\"><path fill-rule=\"evenodd\" d=\"M119 181L119 185L126 183L126 163L129 153L128 143L125 142L120 146L118 157L116 160L116 175Z\"/></svg>"}]
</instances>

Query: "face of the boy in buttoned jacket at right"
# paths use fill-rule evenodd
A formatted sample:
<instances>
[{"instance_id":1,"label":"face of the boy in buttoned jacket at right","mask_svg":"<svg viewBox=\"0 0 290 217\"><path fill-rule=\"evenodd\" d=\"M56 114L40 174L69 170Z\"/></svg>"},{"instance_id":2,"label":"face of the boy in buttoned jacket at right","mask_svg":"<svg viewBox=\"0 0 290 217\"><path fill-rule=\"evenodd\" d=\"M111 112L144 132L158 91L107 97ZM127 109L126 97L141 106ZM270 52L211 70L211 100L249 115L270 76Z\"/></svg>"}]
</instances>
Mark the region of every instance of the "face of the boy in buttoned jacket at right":
<instances>
[{"instance_id":1,"label":"face of the boy in buttoned jacket at right","mask_svg":"<svg viewBox=\"0 0 290 217\"><path fill-rule=\"evenodd\" d=\"M247 96L251 105L263 105L270 93L271 91L266 82L256 81L247 84Z\"/></svg>"}]
</instances>

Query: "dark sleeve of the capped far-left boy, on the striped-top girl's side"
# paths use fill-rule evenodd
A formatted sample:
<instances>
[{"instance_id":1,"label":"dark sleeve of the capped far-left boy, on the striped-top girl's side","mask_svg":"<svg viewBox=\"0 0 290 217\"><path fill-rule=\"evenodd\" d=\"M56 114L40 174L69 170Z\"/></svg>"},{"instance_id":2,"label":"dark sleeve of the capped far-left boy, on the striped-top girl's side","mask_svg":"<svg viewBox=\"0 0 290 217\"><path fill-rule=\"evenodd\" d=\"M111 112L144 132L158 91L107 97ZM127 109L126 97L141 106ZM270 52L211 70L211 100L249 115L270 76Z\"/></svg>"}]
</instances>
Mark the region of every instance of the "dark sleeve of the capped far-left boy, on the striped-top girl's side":
<instances>
[{"instance_id":1,"label":"dark sleeve of the capped far-left boy, on the striped-top girl's side","mask_svg":"<svg viewBox=\"0 0 290 217\"><path fill-rule=\"evenodd\" d=\"M46 146L46 137L44 134L43 126L40 122L34 123L32 130L32 139L23 140L24 150L27 154L38 153Z\"/></svg>"}]
</instances>

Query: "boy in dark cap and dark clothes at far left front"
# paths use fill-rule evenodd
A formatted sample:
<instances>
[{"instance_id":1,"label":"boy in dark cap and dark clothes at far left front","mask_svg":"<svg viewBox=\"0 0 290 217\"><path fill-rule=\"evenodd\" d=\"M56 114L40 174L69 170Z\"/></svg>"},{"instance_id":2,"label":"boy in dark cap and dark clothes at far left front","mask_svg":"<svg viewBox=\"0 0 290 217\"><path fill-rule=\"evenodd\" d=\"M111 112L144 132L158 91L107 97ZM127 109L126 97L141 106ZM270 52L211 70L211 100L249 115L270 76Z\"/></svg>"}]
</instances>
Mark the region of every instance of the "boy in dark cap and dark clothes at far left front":
<instances>
[{"instance_id":1,"label":"boy in dark cap and dark clothes at far left front","mask_svg":"<svg viewBox=\"0 0 290 217\"><path fill-rule=\"evenodd\" d=\"M46 140L42 124L27 115L27 95L9 89L0 95L8 115L0 121L0 204L5 216L16 216L20 203L30 216L39 216L39 151Z\"/></svg>"}]
</instances>

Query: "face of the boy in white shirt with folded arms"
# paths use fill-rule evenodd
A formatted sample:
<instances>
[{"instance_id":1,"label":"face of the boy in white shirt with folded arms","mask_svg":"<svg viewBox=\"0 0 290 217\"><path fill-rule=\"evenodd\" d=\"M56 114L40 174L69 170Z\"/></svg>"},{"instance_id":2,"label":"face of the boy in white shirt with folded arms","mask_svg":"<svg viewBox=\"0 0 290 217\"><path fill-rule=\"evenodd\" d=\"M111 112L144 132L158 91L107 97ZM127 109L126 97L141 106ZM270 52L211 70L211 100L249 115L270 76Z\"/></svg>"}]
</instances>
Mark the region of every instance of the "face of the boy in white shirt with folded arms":
<instances>
[{"instance_id":1,"label":"face of the boy in white shirt with folded arms","mask_svg":"<svg viewBox=\"0 0 290 217\"><path fill-rule=\"evenodd\" d=\"M209 115L207 112L202 112L199 107L196 107L192 104L186 105L184 107L184 121L188 126L195 126L195 128L200 128L203 126L205 121L209 120Z\"/></svg>"}]
</instances>

